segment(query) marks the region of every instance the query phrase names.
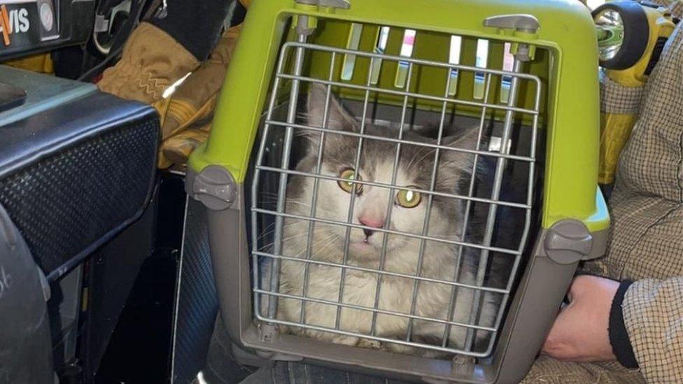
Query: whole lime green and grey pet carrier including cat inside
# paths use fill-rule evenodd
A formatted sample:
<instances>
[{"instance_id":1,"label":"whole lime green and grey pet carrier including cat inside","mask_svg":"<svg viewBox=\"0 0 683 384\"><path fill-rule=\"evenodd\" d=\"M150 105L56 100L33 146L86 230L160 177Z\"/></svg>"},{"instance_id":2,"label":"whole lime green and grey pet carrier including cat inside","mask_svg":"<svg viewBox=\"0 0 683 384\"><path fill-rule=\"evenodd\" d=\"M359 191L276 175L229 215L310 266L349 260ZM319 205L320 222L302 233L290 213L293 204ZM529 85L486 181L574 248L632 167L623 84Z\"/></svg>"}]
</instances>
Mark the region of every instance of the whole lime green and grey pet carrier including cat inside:
<instances>
[{"instance_id":1,"label":"whole lime green and grey pet carrier including cat inside","mask_svg":"<svg viewBox=\"0 0 683 384\"><path fill-rule=\"evenodd\" d=\"M237 355L519 381L605 250L597 71L577 1L255 1L186 180Z\"/></svg>"}]
</instances>

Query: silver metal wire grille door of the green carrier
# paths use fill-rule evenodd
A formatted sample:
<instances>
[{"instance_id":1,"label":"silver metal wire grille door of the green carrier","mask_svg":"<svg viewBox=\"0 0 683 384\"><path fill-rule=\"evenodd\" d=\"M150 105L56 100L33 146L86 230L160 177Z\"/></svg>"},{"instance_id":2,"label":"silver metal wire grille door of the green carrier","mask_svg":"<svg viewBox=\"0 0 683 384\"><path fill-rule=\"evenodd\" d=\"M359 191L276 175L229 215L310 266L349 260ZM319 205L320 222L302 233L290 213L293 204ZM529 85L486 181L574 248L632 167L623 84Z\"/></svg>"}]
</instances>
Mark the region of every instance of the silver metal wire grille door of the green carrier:
<instances>
[{"instance_id":1,"label":"silver metal wire grille door of the green carrier","mask_svg":"<svg viewBox=\"0 0 683 384\"><path fill-rule=\"evenodd\" d=\"M328 72L328 78L312 78L309 76L304 76L302 74L302 63L305 57L309 55L311 51L326 52L330 57L330 69ZM370 61L368 66L368 71L365 76L365 85L356 85L352 83L346 83L341 80L335 79L335 63L338 62L337 59L342 55L355 55L357 59L365 58ZM288 64L288 58L293 57L293 65ZM384 65L387 62L397 62L402 63L402 65L407 65L407 80L402 88L381 88L376 85L372 85L372 69L376 68L373 65L375 60L382 60ZM444 95L433 95L433 94L419 94L414 92L414 78L416 78L415 73L424 68L436 68L444 69L444 83L446 87L444 88ZM533 183L534 183L534 173L535 173L535 148L536 148L536 137L537 137L537 122L539 115L539 104L540 104L540 87L541 82L537 76L532 76L530 74L521 73L523 68L523 62L516 61L514 64L513 71L499 71L494 69L483 69L474 66L466 65L456 65L448 64L446 62L435 62L424 59L416 59L410 57L399 57L393 55L384 55L371 52L362 52L357 50L346 50L342 48L332 48L323 45L314 45L310 43L305 43L305 38L300 37L297 42L285 43L281 48L279 62L277 64L276 76L274 79L274 85L272 90L271 99L269 101L269 106L267 110L267 115L265 117L265 126L262 129L262 138L260 141L260 146L258 150L258 155L255 164L253 185L251 190L251 224L252 224L252 266L253 266L253 299L254 299L254 312L255 318L261 322L267 324L286 326L290 329L300 329L313 332L323 332L326 334L337 334L344 336L360 337L365 340L378 341L381 343L390 343L393 345L407 346L411 348L423 348L425 350L434 350L444 353L460 353L463 355L470 355L475 357L484 357L490 355L493 350L493 343L495 340L495 334L500 329L502 324L502 317L504 313L504 308L507 303L507 299L512 290L512 285L514 278L517 273L521 261L521 254L523 248L526 246L526 241L528 238L531 222L531 210L533 202ZM451 70L456 69L459 73L467 72L477 72L484 73L485 81L485 92L484 99L481 101L458 99L457 97L449 97L448 92L451 82L451 76L449 73ZM506 104L498 104L490 101L490 99L495 99L491 97L491 83L492 78L495 76L506 76L511 79L509 98ZM531 109L520 108L516 106L516 95L519 92L519 87L521 83L526 82L528 86L526 87L526 92L533 92L535 95L534 106ZM327 99L325 100L325 108L323 113L323 125L321 127L314 127L306 123L302 123L297 120L297 96L302 89L302 85L305 84L318 83L326 87ZM362 114L359 116L358 124L360 125L359 131L340 131L335 129L330 129L328 127L328 115L330 114L330 98L332 97L332 87L345 87L353 90L360 90L365 92L365 97L362 101ZM290 101L287 106L286 117L278 116L276 113L277 109L277 97L278 94L283 90L288 90L290 94ZM400 113L397 116L397 129L395 137L378 136L371 134L367 131L367 122L369 120L369 104L371 94L390 94L402 98L402 106L400 107ZM409 104L410 101L415 99L425 99L430 101L437 101L442 104L441 111L439 113L439 129L438 136L435 143L425 143L422 141L413 141L406 138L405 132L409 125ZM477 107L481 111L478 120L478 142L476 148L456 148L452 145L446 145L444 143L444 130L446 125L447 110L451 106L470 106ZM500 139L502 145L498 151L490 151L488 148L483 148L482 138L484 135L484 130L490 119L488 116L491 115L491 111L502 110L505 111L505 122L502 124ZM523 129L530 130L530 145L528 145L528 152L523 155L514 155L510 151L510 145L506 145L512 138L512 130L515 120L527 115L531 121L529 127L523 127ZM320 134L321 144L318 145L316 157L316 165L314 166L313 172L300 171L295 169L293 166L293 156L296 155L295 148L295 137L300 132L316 132ZM395 152L390 154L393 160L393 170L390 178L390 183L379 182L375 180L353 180L353 190L349 194L349 208L346 220L332 220L330 218L325 218L322 215L316 214L316 208L320 206L318 201L318 189L320 188L321 181L332 180L336 182L348 182L348 180L341 178L339 176L333 176L323 172L323 147L325 138L330 135L343 135L348 138L353 138L358 141L357 148L355 149L355 158L352 163L355 164L353 169L359 169L362 161L362 148L364 142L367 141L382 141L385 143L392 143L395 145ZM280 140L280 143L274 143L274 136ZM279 145L281 148L274 156L269 151L272 149L273 145ZM397 164L399 162L402 147L405 148L407 145L416 145L421 148L428 148L433 150L435 159L432 163L432 169L425 169L425 172L430 172L430 183L428 188L418 188L418 187L404 187L396 185L397 180ZM435 185L437 183L437 166L439 164L439 156L442 156L446 151L458 151L471 155L474 158L473 164L478 164L482 159L489 159L491 162L495 163L495 173L493 174L491 192L488 197L477 196L475 191L475 173L476 169L471 169L472 178L466 186L466 193L453 192L443 192L435 190ZM273 161L276 159L276 161ZM502 199L501 189L504 178L506 177L505 170L512 163L523 164L522 169L526 172L526 177L524 177L523 185L518 185L517 187L524 190L523 201L509 201ZM276 178L270 178L269 180L275 180L268 183L265 181L265 176L275 176ZM313 179L313 192L312 201L310 201L310 213L309 215L302 215L300 213L291 213L287 210L287 192L288 192L288 179L296 177L312 178ZM398 190L409 190L412 192L418 192L422 194L426 201L426 215L425 220L422 225L421 231L417 232L404 232L395 228L390 228L390 218L393 212L392 201L387 204L386 220L383 227L368 227L366 225L359 224L355 222L354 219L354 201L357 198L357 192L355 186L369 186L369 187L379 187L390 190L390 196L393 196ZM262 193L265 190L272 190L274 201L272 204L264 203L262 199ZM457 236L451 236L449 238L444 238L442 236L436 237L432 236L429 232L430 214L432 212L432 204L435 197L442 197L448 199L455 199L456 201L462 201L462 207L464 210L463 222L460 231ZM391 199L390 199L391 200ZM324 204L324 202L323 202ZM486 206L486 222L484 225L483 236L479 236L478 241L472 241L474 237L467 237L465 234L468 232L468 227L472 226L472 210L475 205ZM496 218L500 213L500 209L516 209L523 211L523 224L516 229L518 236L516 236L516 242L513 246L497 246L495 241L493 241L493 233L496 225ZM283 252L283 243L288 241L288 239L283 239L284 227L286 225L286 220L304 220L307 222L307 248L306 252L301 255L286 254ZM270 226L268 229L272 228L272 232L266 234L259 233L260 229L265 229L263 222L269 222ZM344 257L339 262L330 262L329 260L318 259L311 255L311 239L314 233L314 227L316 225L330 225L339 226L345 229L345 241L344 247ZM363 266L358 263L350 262L349 259L349 234L353 229L367 229L376 231L383 236L383 243L381 247L381 257L379 259L378 266ZM414 271L411 273L405 273L400 271L392 271L386 268L386 255L388 253L387 239L390 235L395 236L405 236L411 239L418 239L420 241L420 247L418 250L417 264ZM454 234L455 235L455 234ZM265 240L265 236L272 236L272 242ZM304 236L304 234L302 234ZM423 261L425 258L425 248L428 242L435 242L444 244L444 246L453 246L453 266L455 271L451 278L443 278L442 276L426 276L422 273ZM462 264L461 259L465 257L467 253L477 254L477 272L473 279L465 280L458 278L460 265ZM505 283L497 286L487 283L486 273L488 267L491 264L491 255L499 255L502 257L507 257L511 259L510 270L505 279ZM281 264L283 262L295 262L300 264L300 268L303 269L302 278L304 280L303 290L300 294L290 294L285 292L279 292L280 284L280 274ZM336 299L313 297L307 294L308 283L310 278L311 268L316 267L328 267L330 270L337 270L339 273L339 287L337 289L338 294ZM354 272L355 271L355 272ZM346 287L346 275L347 273L369 273L376 276L376 289L374 290L374 304L372 306L353 304L344 300L344 289ZM409 302L409 310L400 311L396 308L390 308L386 306L380 306L380 295L381 290L384 289L382 281L384 279L401 278L411 281L412 290L411 294L406 297L406 302ZM448 306L445 315L443 316L425 316L421 315L416 311L419 306L418 303L418 290L421 284L434 283L439 285L445 285L450 290L449 301L444 303ZM471 292L468 305L471 303L471 311L468 319L455 319L453 318L453 309L456 307L456 301L458 301L460 292ZM484 306L484 297L486 295L498 297L496 300L496 305L498 309L495 312L495 320L493 323L484 324L479 321L479 313L482 306ZM300 316L298 321L292 319L283 319L278 315L278 301L279 300L294 300L300 302ZM307 321L306 313L308 305L314 304L324 304L325 306L334 306L336 308L336 317L334 319L333 325L316 325L311 324ZM341 324L340 319L342 318L342 309L353 310L358 312L369 313L371 316L371 326L366 329L367 332L358 332L358 330L350 331L345 329ZM404 333L400 338L395 336L387 336L380 334L376 329L377 318L380 315L389 315L396 318L405 319L405 329ZM418 338L414 334L414 327L417 322L428 322L442 327L442 334L434 334L429 341L425 341L424 338ZM466 330L465 342L458 345L452 345L450 338L451 329L461 329ZM487 334L486 344L481 349L475 349L474 343L476 341L476 334ZM429 339L429 338L428 338Z\"/></svg>"}]
</instances>

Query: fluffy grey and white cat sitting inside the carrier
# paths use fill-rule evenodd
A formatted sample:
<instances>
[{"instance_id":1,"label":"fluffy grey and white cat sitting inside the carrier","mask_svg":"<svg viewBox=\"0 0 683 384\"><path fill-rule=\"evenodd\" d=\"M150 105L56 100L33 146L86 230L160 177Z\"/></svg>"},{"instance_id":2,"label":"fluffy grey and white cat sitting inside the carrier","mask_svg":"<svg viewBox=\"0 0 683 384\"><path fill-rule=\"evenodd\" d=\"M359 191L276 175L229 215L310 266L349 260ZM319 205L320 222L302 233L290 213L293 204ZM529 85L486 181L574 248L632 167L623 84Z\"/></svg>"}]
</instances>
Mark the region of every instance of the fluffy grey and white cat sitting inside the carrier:
<instances>
[{"instance_id":1,"label":"fluffy grey and white cat sitting inside the carrier","mask_svg":"<svg viewBox=\"0 0 683 384\"><path fill-rule=\"evenodd\" d=\"M321 85L311 86L307 97L306 124L311 127L327 127L333 131L360 132L360 122L346 111L335 97L330 96L328 104L327 123L323 125L323 114L327 90ZM396 138L397 130L380 127L367 123L365 134ZM451 127L449 127L451 129ZM318 131L301 130L300 135L305 141L304 157L296 166L297 171L316 173L318 163L318 148L321 145L321 134ZM403 138L407 141L419 143L436 143L435 138L428 138L416 134L408 129L404 130ZM470 129L457 137L442 138L443 145L453 148L475 149L479 138L478 129ZM396 144L387 141L365 139L362 143L359 169L353 169L358 151L358 137L343 136L326 133L323 143L323 159L321 160L321 174L331 177L358 178L374 183L391 184ZM434 190L454 194L462 190L463 185L469 185L474 155L468 152L440 150L437 164L437 178ZM435 149L422 145L402 144L400 157L395 173L394 185L415 187L420 190L430 190L432 167L435 162ZM416 237L399 234L386 234L374 230L381 229L387 218L388 204L393 204L390 222L387 228L397 232L409 234L423 234L423 223L429 205L428 194L407 192L388 188L353 184L350 181L339 182L318 178L318 198L315 216L322 220L346 222L348 219L351 189L356 188L353 201L352 221L354 225L366 227L351 228L348 233L348 258L346 263L360 269L379 269L381 251L386 246L386 257L383 270L397 275L384 275L381 278L379 302L377 308L383 313L376 314L374 334L387 339L405 340L409 319L391 313L410 314L421 318L448 319L449 301L452 286L421 280L418 283L417 297L414 308L411 308L415 279L404 277L414 276L418 269L418 255L421 246L424 247L422 268L419 276L425 279L453 281L456 273L456 260L459 246L439 241L424 241ZM314 192L314 178L304 176L290 176L287 188L286 213L292 215L309 216ZM401 196L399 196L401 194ZM461 240L465 202L435 195L432 199L431 214L427 236L453 241ZM323 263L342 264L347 227L316 222L310 241L310 259ZM468 229L469 232L469 229ZM386 236L386 244L385 242ZM283 227L282 254L288 257L307 257L309 244L309 221L286 218ZM465 248L460 262L458 282L474 284L477 275L477 250ZM493 269L492 269L493 271ZM500 280L493 285L502 285L502 276L488 276L491 281ZM304 280L307 279L305 296L322 302L308 301L305 304L304 322L316 327L335 328L337 322L337 307L326 302L339 300L339 287L342 279L341 269L337 266L323 264L309 264L307 278L304 263L283 260L280 270L279 292L283 294L304 295ZM350 306L374 307L378 274L366 270L346 269L344 277L344 292L342 303ZM488 285L488 284L487 284ZM472 306L473 291L458 288L456 304L453 308L451 321L460 323L470 322L470 308ZM478 325L491 327L498 314L500 297L495 294L484 294L483 308ZM288 322L300 322L301 301L285 297L279 298L277 318ZM339 329L357 334L372 332L371 311L359 308L342 307L339 311ZM444 337L445 325L442 322L429 322L420 319L412 320L411 341L441 345ZM397 353L422 355L427 357L441 356L442 353L416 348L399 343L378 342L357 336L335 334L318 329L304 329L302 327L282 327L282 332L300 334L303 336L341 343L349 346L361 346L389 350ZM465 344L465 327L453 325L447 336L450 348L463 348ZM481 342L489 335L487 332L477 332L477 341Z\"/></svg>"}]
</instances>

